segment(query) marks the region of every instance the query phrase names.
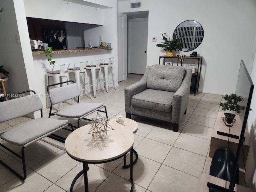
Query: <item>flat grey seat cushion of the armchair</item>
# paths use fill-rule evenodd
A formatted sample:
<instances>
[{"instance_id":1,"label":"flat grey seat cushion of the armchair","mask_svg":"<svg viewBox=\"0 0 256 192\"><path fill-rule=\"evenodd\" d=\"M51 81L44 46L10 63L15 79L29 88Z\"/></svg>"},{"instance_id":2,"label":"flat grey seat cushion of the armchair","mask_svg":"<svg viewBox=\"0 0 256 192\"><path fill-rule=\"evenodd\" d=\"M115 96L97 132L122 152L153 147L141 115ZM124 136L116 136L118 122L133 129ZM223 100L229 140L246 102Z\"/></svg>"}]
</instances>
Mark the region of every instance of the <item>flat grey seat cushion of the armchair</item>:
<instances>
[{"instance_id":1,"label":"flat grey seat cushion of the armchair","mask_svg":"<svg viewBox=\"0 0 256 192\"><path fill-rule=\"evenodd\" d=\"M173 96L174 92L146 89L132 97L132 106L156 111L171 112Z\"/></svg>"}]
</instances>

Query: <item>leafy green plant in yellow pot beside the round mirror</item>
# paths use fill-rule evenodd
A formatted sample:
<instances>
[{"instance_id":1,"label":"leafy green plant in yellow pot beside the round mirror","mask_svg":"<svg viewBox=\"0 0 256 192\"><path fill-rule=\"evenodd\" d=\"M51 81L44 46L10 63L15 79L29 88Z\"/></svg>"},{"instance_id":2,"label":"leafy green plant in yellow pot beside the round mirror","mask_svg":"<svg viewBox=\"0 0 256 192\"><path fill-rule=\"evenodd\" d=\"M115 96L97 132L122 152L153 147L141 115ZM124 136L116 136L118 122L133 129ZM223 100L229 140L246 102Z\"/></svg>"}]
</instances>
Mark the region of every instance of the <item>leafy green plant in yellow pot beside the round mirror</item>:
<instances>
[{"instance_id":1,"label":"leafy green plant in yellow pot beside the round mirror","mask_svg":"<svg viewBox=\"0 0 256 192\"><path fill-rule=\"evenodd\" d=\"M171 57L174 54L174 51L178 52L178 50L182 50L182 38L177 38L177 34L173 34L172 39L166 35L166 33L162 33L162 37L164 42L157 44L156 46L164 48L164 51L167 51L167 56Z\"/></svg>"}]
</instances>

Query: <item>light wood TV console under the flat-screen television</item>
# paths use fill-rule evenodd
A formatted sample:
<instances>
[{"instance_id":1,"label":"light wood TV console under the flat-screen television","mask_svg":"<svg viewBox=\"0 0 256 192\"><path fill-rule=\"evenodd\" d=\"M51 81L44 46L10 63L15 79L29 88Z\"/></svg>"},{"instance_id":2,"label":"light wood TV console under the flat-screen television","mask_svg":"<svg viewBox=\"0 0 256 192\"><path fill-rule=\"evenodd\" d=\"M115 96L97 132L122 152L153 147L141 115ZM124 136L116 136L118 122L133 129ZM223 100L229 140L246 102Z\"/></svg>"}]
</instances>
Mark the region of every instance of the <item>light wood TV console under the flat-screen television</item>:
<instances>
[{"instance_id":1,"label":"light wood TV console under the flat-screen television","mask_svg":"<svg viewBox=\"0 0 256 192\"><path fill-rule=\"evenodd\" d=\"M225 180L210 175L210 166L211 166L212 157L214 155L214 152L218 148L228 146L227 135L229 133L229 127L227 127L224 124L221 117L224 117L224 113L218 112L216 122L214 124L213 132L212 132L209 156L206 158L204 172L202 173L201 177L198 180L196 192L208 192L208 191L209 192L221 192L220 189L225 188L225 184L226 184ZM242 128L242 122L241 122L240 118L241 117L239 115L236 115L236 117L235 117L236 122L234 123L234 125L232 127L230 127L230 134L234 135L234 137L240 136L240 132L241 132L241 128ZM222 132L222 133L218 134L217 132ZM248 150L250 148L249 139L248 139L249 138L248 128L246 128L244 138L245 138L244 144L243 144L243 149L244 149L244 153L245 153L244 162L246 163ZM237 139L237 137L236 138L230 137L229 141L230 141L230 143L229 143L230 150L232 150L234 153L236 153L236 149L237 149L239 140ZM238 161L239 172L241 175L244 172L244 165L243 165L242 157L243 157L243 155L240 155L240 158ZM240 181L240 183L242 183L242 182ZM214 189L209 190L209 186L213 186ZM227 182L227 188L228 188L228 186L229 186L229 182ZM242 185L235 184L234 192L254 192L254 190L252 190L250 188L246 188Z\"/></svg>"}]
</instances>

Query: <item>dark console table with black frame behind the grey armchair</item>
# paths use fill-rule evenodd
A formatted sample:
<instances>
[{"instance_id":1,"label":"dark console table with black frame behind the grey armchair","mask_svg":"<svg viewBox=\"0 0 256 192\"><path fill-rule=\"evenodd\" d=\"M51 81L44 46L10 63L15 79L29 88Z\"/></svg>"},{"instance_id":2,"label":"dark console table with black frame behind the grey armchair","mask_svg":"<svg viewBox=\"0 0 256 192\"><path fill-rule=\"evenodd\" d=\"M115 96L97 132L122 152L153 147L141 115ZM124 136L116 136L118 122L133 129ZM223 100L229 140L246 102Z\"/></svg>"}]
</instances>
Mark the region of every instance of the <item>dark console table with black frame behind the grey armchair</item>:
<instances>
[{"instance_id":1,"label":"dark console table with black frame behind the grey armchair","mask_svg":"<svg viewBox=\"0 0 256 192\"><path fill-rule=\"evenodd\" d=\"M198 86L199 86L199 80L200 80L200 74L201 74L201 68L202 68L202 56L198 56L198 57L189 57L189 56L184 56L183 61L180 60L179 56L172 56L172 57L168 57L167 55L162 55L159 56L159 64L160 64L160 59L163 58L163 64L165 63L165 59L166 58L174 58L177 59L177 66L182 66L182 63L184 63L184 60L188 60L188 59L196 59L198 60L197 63L197 68L195 70L194 73L192 73L192 78L191 78L191 86L190 86L190 91L193 92L196 95L196 91L198 92ZM180 62L179 62L180 61Z\"/></svg>"}]
</instances>

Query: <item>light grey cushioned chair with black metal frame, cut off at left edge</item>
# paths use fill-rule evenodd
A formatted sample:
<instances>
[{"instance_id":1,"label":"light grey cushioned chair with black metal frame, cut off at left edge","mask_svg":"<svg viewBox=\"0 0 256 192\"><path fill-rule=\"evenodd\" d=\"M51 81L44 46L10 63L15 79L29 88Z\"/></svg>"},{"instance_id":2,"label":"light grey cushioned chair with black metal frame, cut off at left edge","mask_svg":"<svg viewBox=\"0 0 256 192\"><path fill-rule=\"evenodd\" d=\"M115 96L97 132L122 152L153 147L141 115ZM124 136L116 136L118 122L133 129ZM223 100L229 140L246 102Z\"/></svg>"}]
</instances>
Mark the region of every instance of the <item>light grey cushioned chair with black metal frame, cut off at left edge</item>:
<instances>
[{"instance_id":1,"label":"light grey cushioned chair with black metal frame, cut off at left edge","mask_svg":"<svg viewBox=\"0 0 256 192\"><path fill-rule=\"evenodd\" d=\"M28 92L33 92L33 94L24 95ZM22 160L24 176L21 176L18 172L12 169L9 165L5 164L2 160L0 160L0 163L8 168L8 170L14 173L18 178L20 178L21 180L25 180L27 174L24 149L46 136L64 142L65 138L62 138L53 133L57 132L62 128L69 130L66 128L66 126L68 125L71 126L72 130L74 130L74 128L72 124L68 124L68 120L58 120L54 118L43 117L43 105L40 100L40 96L36 95L36 92L34 92L33 90L27 90L12 95L16 96L20 94L23 94L24 96L0 102L0 123L21 116L25 116L38 110L40 110L41 112L41 118L33 119L31 121L22 123L18 126L8 129L6 132L1 133L0 136L1 139L4 140L4 142L0 142L0 146L2 146L3 148L5 148ZM11 150L10 144L22 146L21 155Z\"/></svg>"}]
</instances>

